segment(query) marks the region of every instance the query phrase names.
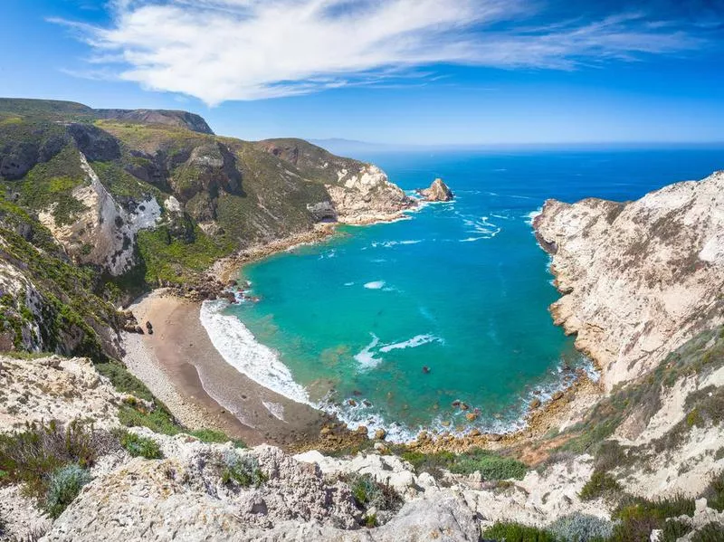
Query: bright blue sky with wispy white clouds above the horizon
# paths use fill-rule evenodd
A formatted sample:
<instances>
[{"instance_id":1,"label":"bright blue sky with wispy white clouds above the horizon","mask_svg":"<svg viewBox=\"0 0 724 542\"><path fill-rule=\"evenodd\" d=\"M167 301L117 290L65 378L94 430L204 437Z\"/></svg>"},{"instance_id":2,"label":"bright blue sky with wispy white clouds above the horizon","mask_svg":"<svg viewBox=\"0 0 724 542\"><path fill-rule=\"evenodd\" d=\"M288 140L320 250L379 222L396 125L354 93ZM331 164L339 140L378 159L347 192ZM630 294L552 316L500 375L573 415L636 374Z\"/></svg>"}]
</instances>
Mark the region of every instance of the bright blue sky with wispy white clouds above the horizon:
<instances>
[{"instance_id":1,"label":"bright blue sky with wispy white clouds above the horizon","mask_svg":"<svg viewBox=\"0 0 724 542\"><path fill-rule=\"evenodd\" d=\"M724 0L0 0L0 95L224 135L721 142Z\"/></svg>"}]
</instances>

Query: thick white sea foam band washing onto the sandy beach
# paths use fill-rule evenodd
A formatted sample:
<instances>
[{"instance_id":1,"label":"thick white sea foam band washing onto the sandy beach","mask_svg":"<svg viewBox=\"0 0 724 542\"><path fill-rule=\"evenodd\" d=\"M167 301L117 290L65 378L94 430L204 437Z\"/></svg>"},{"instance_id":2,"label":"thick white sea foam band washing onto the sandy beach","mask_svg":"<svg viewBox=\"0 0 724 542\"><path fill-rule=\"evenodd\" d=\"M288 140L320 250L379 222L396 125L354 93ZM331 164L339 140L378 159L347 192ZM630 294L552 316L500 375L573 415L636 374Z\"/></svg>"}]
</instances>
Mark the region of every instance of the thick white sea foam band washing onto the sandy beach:
<instances>
[{"instance_id":1,"label":"thick white sea foam band washing onto the sandy beach","mask_svg":"<svg viewBox=\"0 0 724 542\"><path fill-rule=\"evenodd\" d=\"M226 363L259 385L298 403L310 404L307 391L294 382L279 354L258 342L239 319L225 315L226 306L226 301L204 301L200 315L201 325Z\"/></svg>"}]
</instances>

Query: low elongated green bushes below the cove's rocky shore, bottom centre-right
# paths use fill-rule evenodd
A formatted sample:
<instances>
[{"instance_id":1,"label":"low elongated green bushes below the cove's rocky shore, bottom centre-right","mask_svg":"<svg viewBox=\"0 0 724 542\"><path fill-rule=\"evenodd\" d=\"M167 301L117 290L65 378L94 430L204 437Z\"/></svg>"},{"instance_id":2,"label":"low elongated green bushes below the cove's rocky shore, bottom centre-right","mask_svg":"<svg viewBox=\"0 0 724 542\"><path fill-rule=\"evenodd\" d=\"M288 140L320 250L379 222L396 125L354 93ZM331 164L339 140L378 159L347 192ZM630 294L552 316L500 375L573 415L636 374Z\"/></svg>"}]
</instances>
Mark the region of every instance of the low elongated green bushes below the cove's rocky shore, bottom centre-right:
<instances>
[{"instance_id":1,"label":"low elongated green bushes below the cove's rocky shore, bottom centre-right","mask_svg":"<svg viewBox=\"0 0 724 542\"><path fill-rule=\"evenodd\" d=\"M480 472L484 480L521 480L528 466L509 457L503 457L489 450L472 449L456 455L452 452L402 452L402 459L413 465L414 470L426 471L439 476L441 469L453 474Z\"/></svg>"}]
</instances>

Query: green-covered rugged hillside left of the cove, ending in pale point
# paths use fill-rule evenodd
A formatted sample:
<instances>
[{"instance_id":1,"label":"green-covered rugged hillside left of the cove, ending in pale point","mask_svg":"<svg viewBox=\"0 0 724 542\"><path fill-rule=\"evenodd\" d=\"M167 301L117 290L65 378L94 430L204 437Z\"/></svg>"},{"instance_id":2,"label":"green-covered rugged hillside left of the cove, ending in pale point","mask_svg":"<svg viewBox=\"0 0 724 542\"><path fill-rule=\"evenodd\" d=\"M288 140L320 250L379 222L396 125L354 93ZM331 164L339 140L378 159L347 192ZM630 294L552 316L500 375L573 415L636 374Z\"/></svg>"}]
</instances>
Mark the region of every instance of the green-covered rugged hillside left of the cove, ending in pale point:
<instances>
[{"instance_id":1,"label":"green-covered rugged hillside left of the cove, ending in pale point","mask_svg":"<svg viewBox=\"0 0 724 542\"><path fill-rule=\"evenodd\" d=\"M375 166L281 143L217 137L184 111L0 99L2 273L15 284L0 336L112 356L110 304L158 284L206 283L214 261L255 243L414 204ZM49 277L49 267L60 271ZM63 311L72 339L52 327Z\"/></svg>"}]
</instances>

